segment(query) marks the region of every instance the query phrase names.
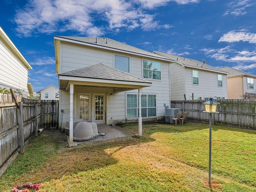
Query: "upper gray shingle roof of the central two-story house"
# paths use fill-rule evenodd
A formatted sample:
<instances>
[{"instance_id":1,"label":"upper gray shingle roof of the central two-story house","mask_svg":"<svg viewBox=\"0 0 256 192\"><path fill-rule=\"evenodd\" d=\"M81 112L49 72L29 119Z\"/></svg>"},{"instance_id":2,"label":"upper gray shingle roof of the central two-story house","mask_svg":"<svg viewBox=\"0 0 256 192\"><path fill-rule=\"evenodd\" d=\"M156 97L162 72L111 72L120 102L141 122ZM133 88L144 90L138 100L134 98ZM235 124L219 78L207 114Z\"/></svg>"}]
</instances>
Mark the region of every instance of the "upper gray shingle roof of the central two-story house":
<instances>
[{"instance_id":1,"label":"upper gray shingle roof of the central two-story house","mask_svg":"<svg viewBox=\"0 0 256 192\"><path fill-rule=\"evenodd\" d=\"M105 47L105 48L113 48L116 50L122 50L122 51L127 51L127 52L131 52L131 53L136 53L136 54L142 54L145 56L153 56L156 58L160 58L160 59L165 59L166 57L158 55L158 54L154 54L152 52L148 52L145 50L142 50L140 48L136 48L134 46L130 46L128 44L110 39L110 38L96 38L96 37L73 37L73 36L55 36L55 37L59 37L59 38L64 38L64 39L69 39L69 40L75 40L78 42L84 42L84 43L88 43L88 44L92 44L92 45L97 45L97 46L101 46L101 47ZM96 43L97 41L97 43Z\"/></svg>"}]
</instances>

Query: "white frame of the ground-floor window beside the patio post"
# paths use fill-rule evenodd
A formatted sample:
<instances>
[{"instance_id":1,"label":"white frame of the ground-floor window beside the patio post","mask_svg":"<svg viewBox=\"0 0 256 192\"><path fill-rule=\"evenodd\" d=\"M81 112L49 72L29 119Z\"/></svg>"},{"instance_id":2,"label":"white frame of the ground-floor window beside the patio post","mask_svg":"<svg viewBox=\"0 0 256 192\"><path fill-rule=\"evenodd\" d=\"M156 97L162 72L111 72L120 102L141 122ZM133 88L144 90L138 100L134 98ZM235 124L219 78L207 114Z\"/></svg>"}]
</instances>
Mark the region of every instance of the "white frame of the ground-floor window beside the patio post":
<instances>
[{"instance_id":1,"label":"white frame of the ground-floor window beside the patio post","mask_svg":"<svg viewBox=\"0 0 256 192\"><path fill-rule=\"evenodd\" d=\"M137 102L137 107L136 107L136 117L131 117L131 118L128 118L127 117L127 115L128 115L128 113L127 113L127 95L136 95L136 102ZM148 95L154 95L154 96L156 96L156 107L148 107L148 100L147 100L147 107L141 107L141 108L146 108L147 109L147 116L146 117L142 117L143 119L146 119L146 118L156 118L157 117L157 95L156 94L142 94L142 95L146 95L147 96L147 98L148 98ZM126 97L125 97L125 117L127 118L127 119L130 119L130 120L132 120L132 119L138 119L138 116L139 116L139 104L138 104L138 98L139 98L139 96L138 96L138 94L136 94L136 93L126 93ZM148 108L155 108L156 109L156 116L148 116Z\"/></svg>"}]
</instances>

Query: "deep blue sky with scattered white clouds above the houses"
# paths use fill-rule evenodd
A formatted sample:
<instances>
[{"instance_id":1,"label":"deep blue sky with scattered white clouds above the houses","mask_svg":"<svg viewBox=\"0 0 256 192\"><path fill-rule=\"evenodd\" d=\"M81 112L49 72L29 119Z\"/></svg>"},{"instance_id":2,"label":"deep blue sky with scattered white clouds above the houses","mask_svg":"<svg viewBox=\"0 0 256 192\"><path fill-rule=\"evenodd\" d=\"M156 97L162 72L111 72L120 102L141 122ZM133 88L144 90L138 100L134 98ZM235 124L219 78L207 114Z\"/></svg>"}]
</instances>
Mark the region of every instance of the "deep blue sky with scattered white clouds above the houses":
<instances>
[{"instance_id":1,"label":"deep blue sky with scattered white clouds above the houses","mask_svg":"<svg viewBox=\"0 0 256 192\"><path fill-rule=\"evenodd\" d=\"M255 0L4 0L0 18L35 92L58 87L54 35L105 35L256 75Z\"/></svg>"}]
</instances>

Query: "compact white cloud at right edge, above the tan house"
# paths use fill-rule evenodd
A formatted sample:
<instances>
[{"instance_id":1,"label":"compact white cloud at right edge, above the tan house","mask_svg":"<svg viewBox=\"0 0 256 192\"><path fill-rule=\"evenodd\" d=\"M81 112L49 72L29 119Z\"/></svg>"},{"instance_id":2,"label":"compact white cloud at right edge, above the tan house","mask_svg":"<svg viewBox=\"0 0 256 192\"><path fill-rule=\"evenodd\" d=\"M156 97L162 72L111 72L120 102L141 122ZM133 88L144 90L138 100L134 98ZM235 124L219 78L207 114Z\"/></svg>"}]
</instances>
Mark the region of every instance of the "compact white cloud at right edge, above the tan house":
<instances>
[{"instance_id":1,"label":"compact white cloud at right edge, above the tan house","mask_svg":"<svg viewBox=\"0 0 256 192\"><path fill-rule=\"evenodd\" d=\"M256 33L232 30L224 34L219 39L219 42L228 42L228 43L239 42L239 41L256 43Z\"/></svg>"}]
</instances>

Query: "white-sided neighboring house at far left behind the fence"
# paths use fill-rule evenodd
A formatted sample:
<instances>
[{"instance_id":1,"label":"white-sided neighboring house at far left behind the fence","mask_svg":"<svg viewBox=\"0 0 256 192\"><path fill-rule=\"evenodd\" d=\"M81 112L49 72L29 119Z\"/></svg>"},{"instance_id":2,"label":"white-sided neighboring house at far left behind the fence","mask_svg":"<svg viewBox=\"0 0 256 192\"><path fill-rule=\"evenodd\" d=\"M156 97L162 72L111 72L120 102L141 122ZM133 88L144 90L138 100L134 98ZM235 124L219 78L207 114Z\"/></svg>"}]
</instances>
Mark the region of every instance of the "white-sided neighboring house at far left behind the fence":
<instances>
[{"instance_id":1,"label":"white-sided neighboring house at far left behind the fence","mask_svg":"<svg viewBox=\"0 0 256 192\"><path fill-rule=\"evenodd\" d=\"M0 88L12 88L26 98L34 95L33 86L28 83L28 70L32 67L1 27L0 69Z\"/></svg>"}]
</instances>

